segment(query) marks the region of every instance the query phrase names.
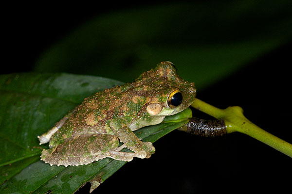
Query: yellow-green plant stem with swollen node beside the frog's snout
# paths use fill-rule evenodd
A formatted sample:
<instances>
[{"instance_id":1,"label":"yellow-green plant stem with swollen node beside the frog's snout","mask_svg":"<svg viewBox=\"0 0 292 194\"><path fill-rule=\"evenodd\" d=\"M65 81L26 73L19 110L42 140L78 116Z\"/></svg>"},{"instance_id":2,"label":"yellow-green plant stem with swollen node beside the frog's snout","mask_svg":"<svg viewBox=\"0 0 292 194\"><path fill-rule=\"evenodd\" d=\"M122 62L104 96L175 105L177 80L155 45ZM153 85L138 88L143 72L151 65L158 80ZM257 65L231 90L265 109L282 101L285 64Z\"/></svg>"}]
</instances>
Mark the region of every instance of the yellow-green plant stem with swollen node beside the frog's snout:
<instances>
[{"instance_id":1,"label":"yellow-green plant stem with swollen node beside the frog's snout","mask_svg":"<svg viewBox=\"0 0 292 194\"><path fill-rule=\"evenodd\" d=\"M198 98L195 99L191 106L215 118L223 119L226 125L227 133L241 132L247 134L292 157L291 144L257 127L243 115L243 110L241 107L232 106L227 107L226 109L219 109Z\"/></svg>"}]
</instances>

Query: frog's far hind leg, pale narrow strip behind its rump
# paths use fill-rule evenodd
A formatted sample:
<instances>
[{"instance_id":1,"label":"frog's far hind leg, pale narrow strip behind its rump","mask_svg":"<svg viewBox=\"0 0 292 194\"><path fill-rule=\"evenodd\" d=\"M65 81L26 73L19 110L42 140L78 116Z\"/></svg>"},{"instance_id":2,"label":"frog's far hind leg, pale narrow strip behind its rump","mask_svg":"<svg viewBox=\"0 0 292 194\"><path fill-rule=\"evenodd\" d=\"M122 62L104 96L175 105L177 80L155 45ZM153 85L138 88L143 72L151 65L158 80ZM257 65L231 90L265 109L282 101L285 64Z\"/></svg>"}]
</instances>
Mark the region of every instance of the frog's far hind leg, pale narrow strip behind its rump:
<instances>
[{"instance_id":1,"label":"frog's far hind leg, pale narrow strip behind its rump","mask_svg":"<svg viewBox=\"0 0 292 194\"><path fill-rule=\"evenodd\" d=\"M67 113L60 121L56 122L55 126L48 130L47 132L43 133L40 136L37 136L38 140L39 140L39 145L41 144L45 144L48 143L52 137L52 135L54 135L54 133L59 130L64 123L67 121L67 119L77 110L77 107L72 109L69 113Z\"/></svg>"}]
</instances>

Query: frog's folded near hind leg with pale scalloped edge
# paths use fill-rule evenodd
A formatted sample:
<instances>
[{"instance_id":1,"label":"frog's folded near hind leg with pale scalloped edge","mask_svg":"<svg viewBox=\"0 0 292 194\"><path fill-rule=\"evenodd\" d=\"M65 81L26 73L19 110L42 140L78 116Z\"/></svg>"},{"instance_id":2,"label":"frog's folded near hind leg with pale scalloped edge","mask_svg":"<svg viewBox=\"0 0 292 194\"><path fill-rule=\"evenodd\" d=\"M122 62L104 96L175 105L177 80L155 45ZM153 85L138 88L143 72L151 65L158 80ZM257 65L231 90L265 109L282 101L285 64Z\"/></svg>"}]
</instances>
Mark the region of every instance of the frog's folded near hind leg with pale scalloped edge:
<instances>
[{"instance_id":1,"label":"frog's folded near hind leg with pale scalloped edge","mask_svg":"<svg viewBox=\"0 0 292 194\"><path fill-rule=\"evenodd\" d=\"M133 157L145 158L145 151L121 152L126 146L119 146L119 139L110 134L83 134L65 139L64 143L44 149L41 160L51 165L83 165L104 158L131 161Z\"/></svg>"}]
</instances>

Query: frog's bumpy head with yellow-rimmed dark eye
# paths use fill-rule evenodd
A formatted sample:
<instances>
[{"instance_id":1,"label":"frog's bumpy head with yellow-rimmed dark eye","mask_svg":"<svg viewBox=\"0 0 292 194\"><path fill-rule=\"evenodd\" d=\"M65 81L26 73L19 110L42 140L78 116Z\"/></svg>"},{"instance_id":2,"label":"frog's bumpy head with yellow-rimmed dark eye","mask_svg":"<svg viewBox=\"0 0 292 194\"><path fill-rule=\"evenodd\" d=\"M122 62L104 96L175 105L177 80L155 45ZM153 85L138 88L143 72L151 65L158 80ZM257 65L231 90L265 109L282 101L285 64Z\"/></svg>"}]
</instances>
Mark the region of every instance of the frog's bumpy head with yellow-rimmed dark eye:
<instances>
[{"instance_id":1,"label":"frog's bumpy head with yellow-rimmed dark eye","mask_svg":"<svg viewBox=\"0 0 292 194\"><path fill-rule=\"evenodd\" d=\"M171 62L161 62L136 80L148 91L146 111L152 116L167 116L189 107L195 97L193 82L184 81Z\"/></svg>"}]
</instances>

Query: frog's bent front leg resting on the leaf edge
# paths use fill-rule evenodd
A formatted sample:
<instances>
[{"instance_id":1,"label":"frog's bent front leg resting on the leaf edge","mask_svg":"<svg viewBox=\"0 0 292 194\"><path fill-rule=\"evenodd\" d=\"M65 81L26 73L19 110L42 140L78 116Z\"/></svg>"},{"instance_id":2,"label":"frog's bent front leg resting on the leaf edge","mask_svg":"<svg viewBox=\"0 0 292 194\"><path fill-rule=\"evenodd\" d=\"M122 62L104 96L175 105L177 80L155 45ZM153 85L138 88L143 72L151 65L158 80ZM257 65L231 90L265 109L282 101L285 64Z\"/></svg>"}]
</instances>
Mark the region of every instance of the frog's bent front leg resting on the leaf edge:
<instances>
[{"instance_id":1,"label":"frog's bent front leg resting on the leaf edge","mask_svg":"<svg viewBox=\"0 0 292 194\"><path fill-rule=\"evenodd\" d=\"M121 142L135 153L145 151L146 158L155 152L151 142L142 142L128 127L128 121L124 118L115 118L110 121L110 128Z\"/></svg>"}]
</instances>

